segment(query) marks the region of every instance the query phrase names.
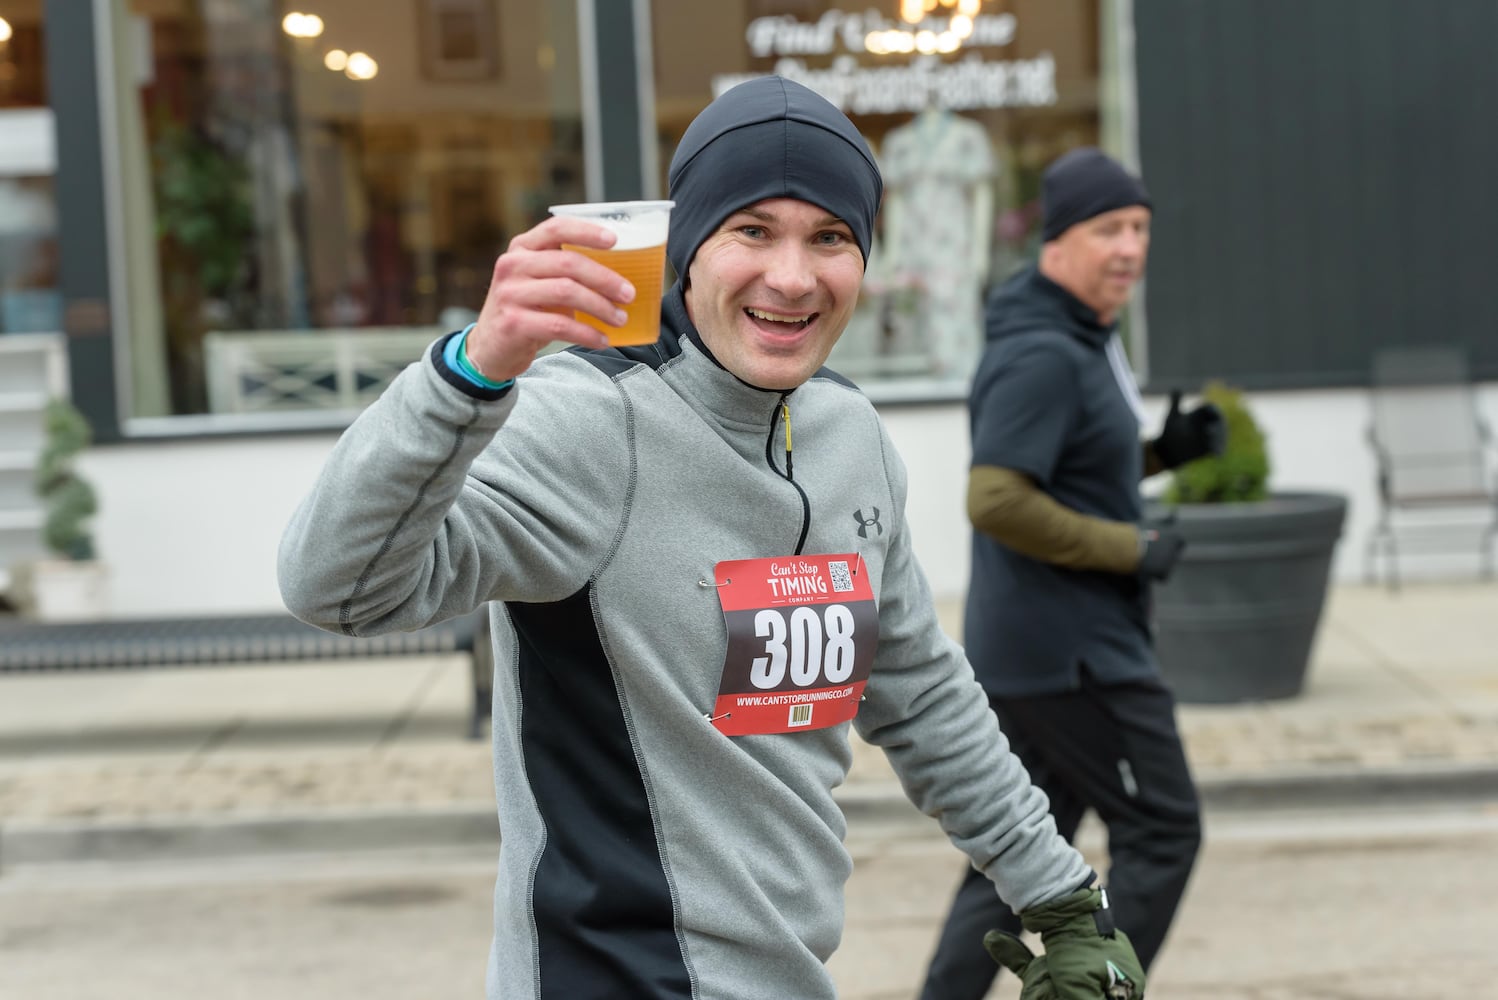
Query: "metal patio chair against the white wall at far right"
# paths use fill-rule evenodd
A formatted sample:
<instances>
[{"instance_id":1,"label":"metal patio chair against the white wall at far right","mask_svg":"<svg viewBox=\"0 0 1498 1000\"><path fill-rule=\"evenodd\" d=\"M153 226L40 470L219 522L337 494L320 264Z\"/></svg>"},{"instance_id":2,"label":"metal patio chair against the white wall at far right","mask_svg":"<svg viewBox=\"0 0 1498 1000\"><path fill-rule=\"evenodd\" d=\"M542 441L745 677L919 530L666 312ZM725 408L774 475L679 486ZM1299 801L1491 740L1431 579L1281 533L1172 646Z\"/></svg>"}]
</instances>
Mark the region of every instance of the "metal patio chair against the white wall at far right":
<instances>
[{"instance_id":1,"label":"metal patio chair against the white wall at far right","mask_svg":"<svg viewBox=\"0 0 1498 1000\"><path fill-rule=\"evenodd\" d=\"M1477 389L1458 347L1395 347L1374 355L1368 440L1378 461L1378 522L1368 539L1366 576L1399 588L1401 531L1450 531L1464 521L1432 524L1420 515L1465 513L1485 521L1479 540L1483 579L1494 575L1498 482L1492 434L1477 409ZM1414 516L1410 516L1414 515Z\"/></svg>"}]
</instances>

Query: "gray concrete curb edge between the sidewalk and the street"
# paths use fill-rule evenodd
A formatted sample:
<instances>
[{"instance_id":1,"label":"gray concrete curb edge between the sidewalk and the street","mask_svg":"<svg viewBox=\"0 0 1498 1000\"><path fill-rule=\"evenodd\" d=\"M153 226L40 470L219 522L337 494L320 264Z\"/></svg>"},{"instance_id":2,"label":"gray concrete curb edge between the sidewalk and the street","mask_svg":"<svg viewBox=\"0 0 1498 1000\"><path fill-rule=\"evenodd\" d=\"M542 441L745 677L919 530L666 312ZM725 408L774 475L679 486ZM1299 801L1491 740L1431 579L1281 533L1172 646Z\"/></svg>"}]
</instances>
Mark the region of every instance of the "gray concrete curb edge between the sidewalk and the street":
<instances>
[{"instance_id":1,"label":"gray concrete curb edge between the sidewalk and the street","mask_svg":"<svg viewBox=\"0 0 1498 1000\"><path fill-rule=\"evenodd\" d=\"M1395 805L1450 799L1498 801L1498 762L1399 769L1306 769L1203 775L1206 811ZM930 822L899 781L839 789L851 832L863 823ZM343 808L259 816L163 816L141 820L0 823L0 873L63 862L147 862L244 855L499 846L491 802L443 808Z\"/></svg>"}]
</instances>

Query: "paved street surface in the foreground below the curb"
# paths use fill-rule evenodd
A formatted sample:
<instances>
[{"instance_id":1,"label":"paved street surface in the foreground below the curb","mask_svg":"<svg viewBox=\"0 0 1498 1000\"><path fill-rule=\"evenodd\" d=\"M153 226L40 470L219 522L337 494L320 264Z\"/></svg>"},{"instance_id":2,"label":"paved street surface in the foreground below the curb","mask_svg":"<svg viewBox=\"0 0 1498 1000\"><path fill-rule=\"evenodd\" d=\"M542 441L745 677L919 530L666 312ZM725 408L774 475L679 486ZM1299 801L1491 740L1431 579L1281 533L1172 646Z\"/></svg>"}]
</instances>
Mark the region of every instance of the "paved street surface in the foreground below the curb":
<instances>
[{"instance_id":1,"label":"paved street surface in the foreground below the curb","mask_svg":"<svg viewBox=\"0 0 1498 1000\"><path fill-rule=\"evenodd\" d=\"M1095 831L1085 844L1101 861ZM957 856L897 819L860 823L851 849L842 997L905 1000ZM1495 852L1498 804L1212 816L1149 996L1491 997ZM478 997L491 865L449 850L15 870L0 879L0 997Z\"/></svg>"}]
</instances>

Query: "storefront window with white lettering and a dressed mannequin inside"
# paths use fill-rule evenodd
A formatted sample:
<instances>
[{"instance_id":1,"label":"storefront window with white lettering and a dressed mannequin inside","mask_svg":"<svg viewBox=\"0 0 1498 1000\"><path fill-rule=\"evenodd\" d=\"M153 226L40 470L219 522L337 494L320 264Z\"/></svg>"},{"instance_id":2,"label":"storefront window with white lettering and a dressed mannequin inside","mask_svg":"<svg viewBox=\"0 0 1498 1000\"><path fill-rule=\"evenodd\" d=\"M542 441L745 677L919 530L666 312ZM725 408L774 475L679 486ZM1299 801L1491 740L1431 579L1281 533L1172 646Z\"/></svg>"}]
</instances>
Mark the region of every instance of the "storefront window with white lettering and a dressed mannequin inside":
<instances>
[{"instance_id":1,"label":"storefront window with white lettering and a dressed mannequin inside","mask_svg":"<svg viewBox=\"0 0 1498 1000\"><path fill-rule=\"evenodd\" d=\"M885 177L830 364L876 398L965 391L989 287L1032 260L1040 174L1101 136L1097 0L653 0L662 171L713 96L779 73L840 106Z\"/></svg>"}]
</instances>

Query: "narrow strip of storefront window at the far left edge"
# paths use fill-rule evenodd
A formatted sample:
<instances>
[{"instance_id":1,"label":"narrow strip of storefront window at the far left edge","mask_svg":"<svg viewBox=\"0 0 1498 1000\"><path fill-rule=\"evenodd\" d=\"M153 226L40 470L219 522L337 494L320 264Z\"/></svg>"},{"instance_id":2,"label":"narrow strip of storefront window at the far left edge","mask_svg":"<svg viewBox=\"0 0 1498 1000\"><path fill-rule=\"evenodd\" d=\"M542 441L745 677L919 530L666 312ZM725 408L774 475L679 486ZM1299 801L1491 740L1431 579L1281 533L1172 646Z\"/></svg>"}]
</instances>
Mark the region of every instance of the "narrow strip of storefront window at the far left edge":
<instances>
[{"instance_id":1,"label":"narrow strip of storefront window at the far left edge","mask_svg":"<svg viewBox=\"0 0 1498 1000\"><path fill-rule=\"evenodd\" d=\"M0 0L0 335L61 329L40 0Z\"/></svg>"}]
</instances>

